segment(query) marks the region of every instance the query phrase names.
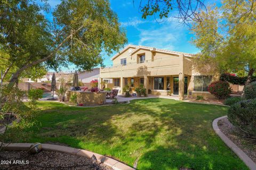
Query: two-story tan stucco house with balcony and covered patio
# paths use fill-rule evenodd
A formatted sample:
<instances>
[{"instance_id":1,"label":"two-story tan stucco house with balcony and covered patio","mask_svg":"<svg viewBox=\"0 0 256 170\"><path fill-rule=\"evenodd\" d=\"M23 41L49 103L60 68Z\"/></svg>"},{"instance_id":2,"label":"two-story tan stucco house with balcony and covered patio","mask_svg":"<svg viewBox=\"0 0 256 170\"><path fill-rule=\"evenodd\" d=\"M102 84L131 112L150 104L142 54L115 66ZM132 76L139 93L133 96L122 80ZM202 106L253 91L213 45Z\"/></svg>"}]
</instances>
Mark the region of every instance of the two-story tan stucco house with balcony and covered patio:
<instances>
[{"instance_id":1,"label":"two-story tan stucco house with balcony and covered patio","mask_svg":"<svg viewBox=\"0 0 256 170\"><path fill-rule=\"evenodd\" d=\"M173 52L154 47L128 45L111 60L113 67L100 69L100 79L113 79L114 88L122 89L126 84L134 90L144 84L147 94L198 95L213 98L207 91L212 75L202 75L193 70L193 54Z\"/></svg>"}]
</instances>

